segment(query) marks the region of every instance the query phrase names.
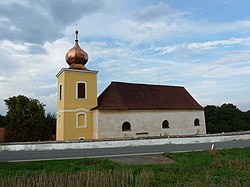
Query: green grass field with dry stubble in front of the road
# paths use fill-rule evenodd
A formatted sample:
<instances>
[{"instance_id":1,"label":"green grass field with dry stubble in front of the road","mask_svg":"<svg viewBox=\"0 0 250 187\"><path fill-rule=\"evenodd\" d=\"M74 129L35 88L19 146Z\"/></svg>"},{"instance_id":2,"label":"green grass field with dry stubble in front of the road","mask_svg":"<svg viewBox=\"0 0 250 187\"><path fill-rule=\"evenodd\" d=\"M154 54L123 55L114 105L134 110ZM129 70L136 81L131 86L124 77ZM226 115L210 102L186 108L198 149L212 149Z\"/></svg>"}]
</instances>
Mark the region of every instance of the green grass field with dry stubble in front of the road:
<instances>
[{"instance_id":1,"label":"green grass field with dry stubble in front of the road","mask_svg":"<svg viewBox=\"0 0 250 187\"><path fill-rule=\"evenodd\" d=\"M172 164L103 159L0 163L0 186L250 186L250 147L166 153Z\"/></svg>"}]
</instances>

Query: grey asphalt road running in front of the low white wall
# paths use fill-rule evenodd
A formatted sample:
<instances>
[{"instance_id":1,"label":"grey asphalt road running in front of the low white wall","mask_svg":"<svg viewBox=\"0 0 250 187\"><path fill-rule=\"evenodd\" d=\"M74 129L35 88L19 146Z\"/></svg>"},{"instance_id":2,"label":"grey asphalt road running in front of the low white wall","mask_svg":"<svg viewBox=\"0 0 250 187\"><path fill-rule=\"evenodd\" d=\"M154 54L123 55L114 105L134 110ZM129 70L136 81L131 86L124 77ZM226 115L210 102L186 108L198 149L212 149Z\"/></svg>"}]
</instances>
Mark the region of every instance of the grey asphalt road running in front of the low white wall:
<instances>
[{"instance_id":1,"label":"grey asphalt road running in front of the low white wall","mask_svg":"<svg viewBox=\"0 0 250 187\"><path fill-rule=\"evenodd\" d=\"M110 158L118 156L154 155L164 152L189 152L208 150L211 143L202 144L168 144L137 147L78 149L78 150L52 150L52 151L13 151L0 152L0 162L23 162L38 160L60 160L79 158ZM250 140L218 142L214 143L215 149L227 149L234 147L250 147Z\"/></svg>"}]
</instances>

